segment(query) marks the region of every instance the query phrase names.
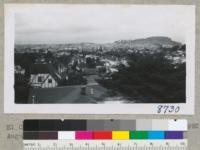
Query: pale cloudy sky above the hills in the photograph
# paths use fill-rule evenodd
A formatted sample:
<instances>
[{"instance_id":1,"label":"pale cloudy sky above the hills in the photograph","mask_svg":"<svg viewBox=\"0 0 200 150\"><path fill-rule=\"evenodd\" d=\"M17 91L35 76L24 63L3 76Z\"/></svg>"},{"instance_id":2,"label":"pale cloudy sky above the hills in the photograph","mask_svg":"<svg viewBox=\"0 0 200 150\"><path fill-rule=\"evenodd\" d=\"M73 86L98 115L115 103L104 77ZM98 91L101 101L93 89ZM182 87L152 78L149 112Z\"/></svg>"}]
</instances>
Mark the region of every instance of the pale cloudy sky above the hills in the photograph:
<instances>
[{"instance_id":1,"label":"pale cloudy sky above the hills in the photograph","mask_svg":"<svg viewBox=\"0 0 200 150\"><path fill-rule=\"evenodd\" d=\"M35 4L16 9L15 43L110 43L150 36L184 42L189 14L181 5Z\"/></svg>"}]
</instances>

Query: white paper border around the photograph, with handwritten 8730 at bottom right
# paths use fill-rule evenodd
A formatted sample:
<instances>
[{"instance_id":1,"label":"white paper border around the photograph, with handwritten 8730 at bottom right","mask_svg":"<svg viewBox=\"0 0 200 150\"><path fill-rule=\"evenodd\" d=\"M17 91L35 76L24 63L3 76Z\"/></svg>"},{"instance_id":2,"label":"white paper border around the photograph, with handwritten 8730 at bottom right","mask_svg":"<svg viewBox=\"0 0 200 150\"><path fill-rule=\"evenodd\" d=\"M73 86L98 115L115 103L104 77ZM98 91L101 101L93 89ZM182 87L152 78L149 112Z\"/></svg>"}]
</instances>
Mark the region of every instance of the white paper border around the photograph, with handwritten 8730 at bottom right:
<instances>
[{"instance_id":1,"label":"white paper border around the photograph, with handwritten 8730 at bottom right","mask_svg":"<svg viewBox=\"0 0 200 150\"><path fill-rule=\"evenodd\" d=\"M33 5L61 4L5 4L4 34L4 113L30 114L158 114L158 106L179 106L178 115L194 114L195 102L195 5L156 5L183 7L188 12L186 31L186 103L147 103L147 104L15 104L14 102L14 28L15 11ZM72 5L72 4L62 4ZM78 5L78 4L76 4ZM82 5L82 4L79 4ZM91 5L91 4L90 4ZM92 4L93 5L93 4ZM95 4L102 5L102 4ZM110 4L111 5L111 4ZM112 4L113 5L113 4ZM131 4L128 4L131 5ZM137 5L143 7L144 5ZM151 5L149 7L154 7ZM163 113L161 113L163 114Z\"/></svg>"}]
</instances>

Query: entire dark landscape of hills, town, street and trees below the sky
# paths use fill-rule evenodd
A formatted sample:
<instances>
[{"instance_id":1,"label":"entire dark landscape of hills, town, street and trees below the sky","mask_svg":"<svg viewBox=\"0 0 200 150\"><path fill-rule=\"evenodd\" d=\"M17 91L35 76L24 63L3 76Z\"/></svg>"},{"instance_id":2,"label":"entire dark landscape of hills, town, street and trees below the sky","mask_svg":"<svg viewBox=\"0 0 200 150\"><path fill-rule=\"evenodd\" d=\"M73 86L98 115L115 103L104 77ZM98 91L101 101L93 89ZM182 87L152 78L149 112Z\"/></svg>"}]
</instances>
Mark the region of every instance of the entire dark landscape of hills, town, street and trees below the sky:
<instances>
[{"instance_id":1,"label":"entire dark landscape of hills, town, street and trees below the sky","mask_svg":"<svg viewBox=\"0 0 200 150\"><path fill-rule=\"evenodd\" d=\"M15 44L15 102L184 102L185 51L168 37Z\"/></svg>"}]
</instances>

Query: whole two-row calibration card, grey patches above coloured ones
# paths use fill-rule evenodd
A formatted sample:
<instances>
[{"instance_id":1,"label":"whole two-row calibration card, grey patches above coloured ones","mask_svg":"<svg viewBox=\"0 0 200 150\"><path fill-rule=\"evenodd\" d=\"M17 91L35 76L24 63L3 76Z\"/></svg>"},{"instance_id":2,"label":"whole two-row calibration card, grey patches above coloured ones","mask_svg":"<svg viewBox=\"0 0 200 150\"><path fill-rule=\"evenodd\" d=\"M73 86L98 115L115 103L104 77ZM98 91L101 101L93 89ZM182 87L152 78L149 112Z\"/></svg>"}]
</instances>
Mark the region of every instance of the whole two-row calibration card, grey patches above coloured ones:
<instances>
[{"instance_id":1,"label":"whole two-row calibration card, grey patches above coloured ones","mask_svg":"<svg viewBox=\"0 0 200 150\"><path fill-rule=\"evenodd\" d=\"M24 121L24 140L184 139L185 131L186 120Z\"/></svg>"}]
</instances>

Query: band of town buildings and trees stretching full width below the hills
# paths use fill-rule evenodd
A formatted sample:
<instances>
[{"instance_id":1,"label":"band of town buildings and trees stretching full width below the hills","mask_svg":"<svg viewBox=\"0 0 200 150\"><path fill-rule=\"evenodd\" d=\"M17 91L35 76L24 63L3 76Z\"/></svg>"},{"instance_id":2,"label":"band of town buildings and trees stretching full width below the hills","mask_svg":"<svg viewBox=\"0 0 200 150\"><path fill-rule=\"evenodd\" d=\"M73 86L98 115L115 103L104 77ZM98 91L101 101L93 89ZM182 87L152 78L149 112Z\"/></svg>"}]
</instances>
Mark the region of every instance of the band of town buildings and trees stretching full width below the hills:
<instances>
[{"instance_id":1,"label":"band of town buildings and trees stretching full width below the hills","mask_svg":"<svg viewBox=\"0 0 200 150\"><path fill-rule=\"evenodd\" d=\"M124 44L125 41L120 41ZM131 42L131 41L130 41ZM127 41L125 42L127 43ZM105 47L85 44L84 46L67 47L22 47L16 49L15 54L35 55L34 62L28 67L23 68L19 64L15 65L15 75L28 77L28 85L34 88L50 88L63 85L66 80L70 80L70 75L99 75L103 78L112 78L112 74L118 72L118 67L124 65L129 66L127 56L132 53L152 54L160 52L166 53L166 57L181 63L185 60L185 46L179 47L173 51L173 47L165 47L165 49L123 49L116 48L107 51ZM85 49L90 47L89 49ZM91 49L94 49L91 51ZM27 75L28 74L28 75Z\"/></svg>"}]
</instances>

